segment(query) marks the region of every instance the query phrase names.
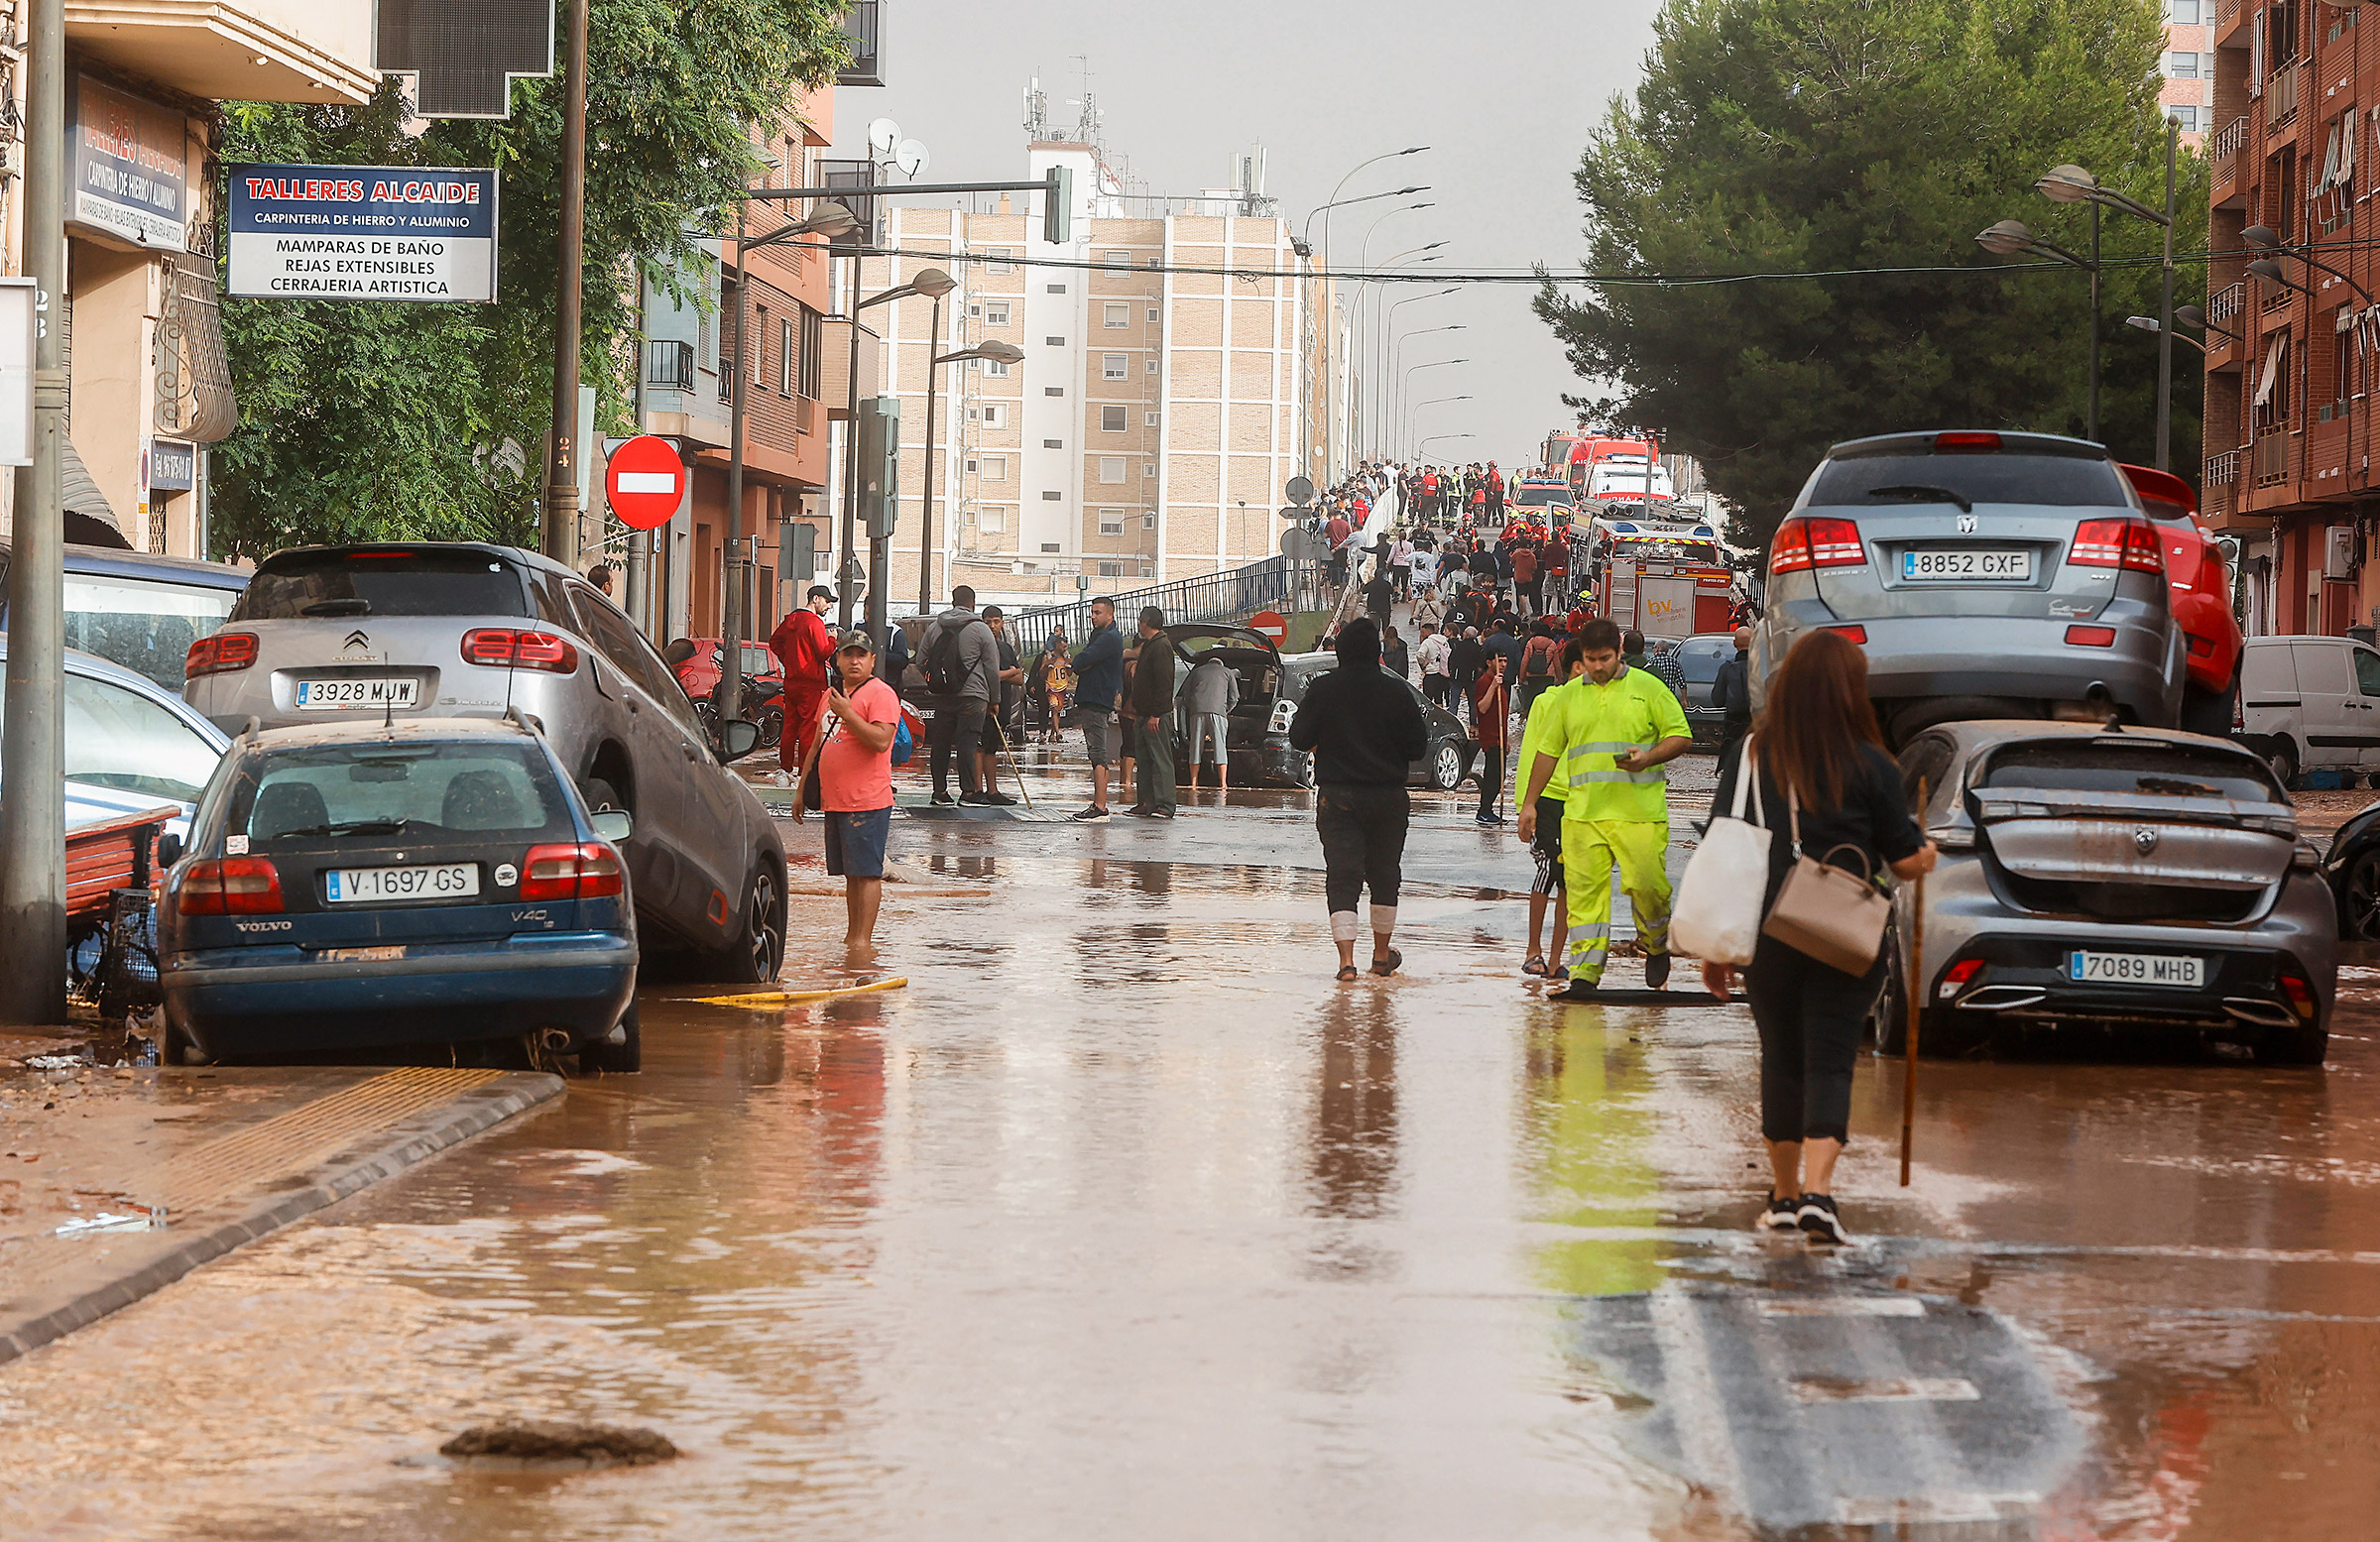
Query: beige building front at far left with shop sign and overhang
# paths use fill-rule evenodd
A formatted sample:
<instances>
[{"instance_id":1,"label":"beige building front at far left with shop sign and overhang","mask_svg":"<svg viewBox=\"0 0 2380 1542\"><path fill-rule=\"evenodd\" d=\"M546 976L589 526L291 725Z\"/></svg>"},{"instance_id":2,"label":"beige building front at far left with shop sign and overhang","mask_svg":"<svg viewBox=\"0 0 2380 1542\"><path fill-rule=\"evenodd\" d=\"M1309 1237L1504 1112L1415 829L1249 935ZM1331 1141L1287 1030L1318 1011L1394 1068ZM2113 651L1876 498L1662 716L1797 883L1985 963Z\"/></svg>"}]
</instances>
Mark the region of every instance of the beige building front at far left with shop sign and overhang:
<instances>
[{"instance_id":1,"label":"beige building front at far left with shop sign and overhang","mask_svg":"<svg viewBox=\"0 0 2380 1542\"><path fill-rule=\"evenodd\" d=\"M31 7L0 7L26 38ZM7 271L24 271L29 57L0 59ZM67 538L205 554L238 426L214 262L219 102L367 102L371 0L67 0ZM0 478L14 519L14 478Z\"/></svg>"}]
</instances>

